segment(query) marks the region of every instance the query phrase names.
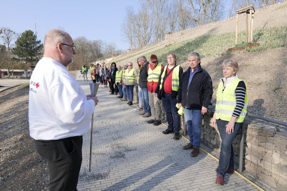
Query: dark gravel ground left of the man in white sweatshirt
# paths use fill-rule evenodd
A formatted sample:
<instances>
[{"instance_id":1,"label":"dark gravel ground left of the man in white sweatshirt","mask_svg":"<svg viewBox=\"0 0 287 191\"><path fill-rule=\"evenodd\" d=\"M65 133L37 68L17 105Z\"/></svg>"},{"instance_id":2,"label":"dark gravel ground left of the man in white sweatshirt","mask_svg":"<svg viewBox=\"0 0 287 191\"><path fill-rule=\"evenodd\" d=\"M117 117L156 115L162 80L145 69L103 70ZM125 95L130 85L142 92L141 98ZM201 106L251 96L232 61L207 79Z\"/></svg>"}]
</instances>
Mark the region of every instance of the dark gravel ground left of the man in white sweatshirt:
<instances>
[{"instance_id":1,"label":"dark gravel ground left of the man in white sweatshirt","mask_svg":"<svg viewBox=\"0 0 287 191\"><path fill-rule=\"evenodd\" d=\"M0 190L47 190L48 164L28 130L29 88L0 93Z\"/></svg>"}]
</instances>

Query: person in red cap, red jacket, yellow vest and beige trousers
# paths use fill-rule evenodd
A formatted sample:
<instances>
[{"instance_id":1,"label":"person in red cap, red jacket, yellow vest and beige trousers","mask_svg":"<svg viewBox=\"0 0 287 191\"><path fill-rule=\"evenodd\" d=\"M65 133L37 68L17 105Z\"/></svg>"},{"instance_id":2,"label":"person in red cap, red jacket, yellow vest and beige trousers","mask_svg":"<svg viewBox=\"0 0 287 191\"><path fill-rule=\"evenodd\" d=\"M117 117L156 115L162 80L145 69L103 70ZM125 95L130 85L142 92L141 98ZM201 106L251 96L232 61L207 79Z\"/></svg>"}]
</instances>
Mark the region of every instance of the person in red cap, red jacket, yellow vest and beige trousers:
<instances>
[{"instance_id":1,"label":"person in red cap, red jacket, yellow vest and beige trousers","mask_svg":"<svg viewBox=\"0 0 287 191\"><path fill-rule=\"evenodd\" d=\"M163 68L164 66L162 64L158 64L158 57L152 54L150 56L150 64L147 66L147 88L149 90L149 106L153 119L147 121L148 124L161 124L160 100L155 93L155 89L158 86L158 79Z\"/></svg>"}]
</instances>

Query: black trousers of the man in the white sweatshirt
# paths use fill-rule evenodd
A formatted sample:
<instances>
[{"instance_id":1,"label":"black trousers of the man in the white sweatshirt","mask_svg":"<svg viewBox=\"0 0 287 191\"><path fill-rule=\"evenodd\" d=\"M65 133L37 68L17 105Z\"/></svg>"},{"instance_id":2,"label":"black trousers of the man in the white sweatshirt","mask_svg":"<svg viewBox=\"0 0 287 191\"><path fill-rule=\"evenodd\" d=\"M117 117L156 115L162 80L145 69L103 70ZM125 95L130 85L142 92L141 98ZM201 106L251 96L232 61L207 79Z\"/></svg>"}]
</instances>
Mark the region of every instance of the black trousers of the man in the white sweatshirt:
<instances>
[{"instance_id":1,"label":"black trousers of the man in the white sweatshirt","mask_svg":"<svg viewBox=\"0 0 287 191\"><path fill-rule=\"evenodd\" d=\"M49 190L76 191L82 164L83 136L34 142L38 153L48 161Z\"/></svg>"}]
</instances>

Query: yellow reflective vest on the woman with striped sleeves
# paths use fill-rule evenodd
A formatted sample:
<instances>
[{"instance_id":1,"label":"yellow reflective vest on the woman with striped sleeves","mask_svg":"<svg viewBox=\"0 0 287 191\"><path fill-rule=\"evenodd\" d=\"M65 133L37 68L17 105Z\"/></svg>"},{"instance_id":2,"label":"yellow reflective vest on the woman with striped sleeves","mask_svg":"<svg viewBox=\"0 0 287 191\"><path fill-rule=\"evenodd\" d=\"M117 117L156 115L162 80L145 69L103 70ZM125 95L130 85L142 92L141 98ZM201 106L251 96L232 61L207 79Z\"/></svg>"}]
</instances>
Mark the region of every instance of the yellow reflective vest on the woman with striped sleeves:
<instances>
[{"instance_id":1,"label":"yellow reflective vest on the woman with striped sleeves","mask_svg":"<svg viewBox=\"0 0 287 191\"><path fill-rule=\"evenodd\" d=\"M239 83L239 78L235 78L233 81L230 82L222 92L223 83L220 81L217 88L216 93L216 106L215 106L215 113L216 119L221 119L224 121L230 121L233 111L236 106L236 98L235 98L235 89ZM247 90L245 93L244 99L244 107L239 115L239 118L236 119L235 122L242 123L244 118L247 114L247 106L248 106L248 97L247 97Z\"/></svg>"}]
</instances>

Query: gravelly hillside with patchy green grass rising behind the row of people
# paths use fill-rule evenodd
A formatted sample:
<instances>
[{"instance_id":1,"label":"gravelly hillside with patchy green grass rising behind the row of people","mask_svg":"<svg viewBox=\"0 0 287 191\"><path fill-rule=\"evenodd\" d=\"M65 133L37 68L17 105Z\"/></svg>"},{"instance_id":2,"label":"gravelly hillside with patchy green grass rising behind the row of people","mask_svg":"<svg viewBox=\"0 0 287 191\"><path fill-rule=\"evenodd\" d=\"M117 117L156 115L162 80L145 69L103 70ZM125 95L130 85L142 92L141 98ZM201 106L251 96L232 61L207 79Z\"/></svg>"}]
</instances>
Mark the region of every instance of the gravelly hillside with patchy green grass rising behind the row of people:
<instances>
[{"instance_id":1,"label":"gravelly hillside with patchy green grass rising behind the row of people","mask_svg":"<svg viewBox=\"0 0 287 191\"><path fill-rule=\"evenodd\" d=\"M243 15L243 14L242 14ZM149 58L156 54L166 64L169 52L176 54L178 64L187 69L187 55L191 51L201 55L201 65L213 80L213 102L219 79L222 78L222 61L236 59L238 75L248 84L249 112L286 120L287 104L287 1L257 10L254 16L253 41L259 46L229 52L234 47L235 18L218 21L172 34L172 44L165 41L133 50L132 55L116 57L122 65L135 62L138 56ZM243 20L243 21L242 21ZM245 39L245 17L239 17L239 43ZM283 112L284 111L284 112Z\"/></svg>"}]
</instances>

